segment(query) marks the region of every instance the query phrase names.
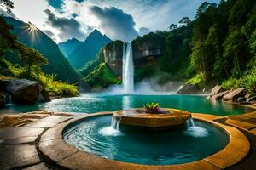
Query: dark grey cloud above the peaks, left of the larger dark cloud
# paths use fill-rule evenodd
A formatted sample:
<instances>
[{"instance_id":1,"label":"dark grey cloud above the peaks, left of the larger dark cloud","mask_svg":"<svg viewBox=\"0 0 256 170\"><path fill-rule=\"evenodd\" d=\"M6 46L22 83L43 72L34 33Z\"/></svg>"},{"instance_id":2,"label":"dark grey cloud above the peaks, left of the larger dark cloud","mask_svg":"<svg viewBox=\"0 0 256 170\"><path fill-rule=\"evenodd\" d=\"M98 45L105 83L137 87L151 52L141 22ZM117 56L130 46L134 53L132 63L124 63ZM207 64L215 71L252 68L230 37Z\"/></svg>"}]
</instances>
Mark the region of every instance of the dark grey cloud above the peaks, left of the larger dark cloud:
<instances>
[{"instance_id":1,"label":"dark grey cloud above the peaks, left of the larger dark cloud","mask_svg":"<svg viewBox=\"0 0 256 170\"><path fill-rule=\"evenodd\" d=\"M62 41L66 41L70 37L84 39L85 33L82 31L82 26L79 21L73 18L57 17L49 9L45 9L44 13L47 14L46 23L59 31L58 37L60 37Z\"/></svg>"}]
</instances>

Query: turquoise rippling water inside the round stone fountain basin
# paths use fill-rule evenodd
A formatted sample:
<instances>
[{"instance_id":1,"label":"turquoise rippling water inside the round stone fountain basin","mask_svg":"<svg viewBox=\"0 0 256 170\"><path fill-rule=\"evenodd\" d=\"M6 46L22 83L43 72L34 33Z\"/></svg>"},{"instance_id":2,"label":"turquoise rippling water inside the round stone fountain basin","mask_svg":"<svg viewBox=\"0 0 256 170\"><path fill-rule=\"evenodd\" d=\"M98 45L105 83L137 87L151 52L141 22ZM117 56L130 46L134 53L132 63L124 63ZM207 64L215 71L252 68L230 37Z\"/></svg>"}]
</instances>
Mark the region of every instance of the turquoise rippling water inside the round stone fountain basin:
<instances>
[{"instance_id":1,"label":"turquoise rippling water inside the round stone fountain basin","mask_svg":"<svg viewBox=\"0 0 256 170\"><path fill-rule=\"evenodd\" d=\"M64 131L67 144L91 154L146 165L198 161L222 150L229 142L223 130L207 122L195 127L150 131L111 129L112 116L94 116ZM120 125L121 127L121 125Z\"/></svg>"}]
</instances>

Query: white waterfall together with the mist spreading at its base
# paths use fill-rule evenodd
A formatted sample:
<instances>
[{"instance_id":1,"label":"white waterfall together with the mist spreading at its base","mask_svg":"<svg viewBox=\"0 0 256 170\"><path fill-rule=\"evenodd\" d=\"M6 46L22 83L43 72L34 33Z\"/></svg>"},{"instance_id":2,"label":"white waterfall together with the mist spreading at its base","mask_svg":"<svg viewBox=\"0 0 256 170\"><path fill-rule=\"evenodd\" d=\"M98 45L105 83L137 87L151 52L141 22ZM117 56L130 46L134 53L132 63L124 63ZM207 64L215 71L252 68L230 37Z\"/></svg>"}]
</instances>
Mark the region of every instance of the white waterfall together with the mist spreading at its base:
<instances>
[{"instance_id":1,"label":"white waterfall together with the mist spreading at its base","mask_svg":"<svg viewBox=\"0 0 256 170\"><path fill-rule=\"evenodd\" d=\"M164 75L166 73L162 73ZM160 77L155 75L134 84L134 63L132 43L123 42L122 85L113 85L104 90L106 94L176 94L182 82L166 81L159 84Z\"/></svg>"}]
</instances>

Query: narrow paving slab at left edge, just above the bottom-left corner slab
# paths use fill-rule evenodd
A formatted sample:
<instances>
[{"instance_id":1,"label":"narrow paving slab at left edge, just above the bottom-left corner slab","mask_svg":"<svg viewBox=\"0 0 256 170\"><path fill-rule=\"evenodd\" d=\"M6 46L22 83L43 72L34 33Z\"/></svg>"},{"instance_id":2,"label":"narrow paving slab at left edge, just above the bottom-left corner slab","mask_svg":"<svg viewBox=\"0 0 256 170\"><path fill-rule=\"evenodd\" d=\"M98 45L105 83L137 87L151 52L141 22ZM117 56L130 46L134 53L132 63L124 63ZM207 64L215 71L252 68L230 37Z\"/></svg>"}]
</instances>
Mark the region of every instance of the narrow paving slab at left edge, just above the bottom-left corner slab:
<instances>
[{"instance_id":1,"label":"narrow paving slab at left edge, just above the bottom-left corner slab","mask_svg":"<svg viewBox=\"0 0 256 170\"><path fill-rule=\"evenodd\" d=\"M19 137L19 138L5 138L2 142L0 142L1 145L13 145L13 144L26 144L35 142L37 139L37 136L32 137Z\"/></svg>"}]
</instances>

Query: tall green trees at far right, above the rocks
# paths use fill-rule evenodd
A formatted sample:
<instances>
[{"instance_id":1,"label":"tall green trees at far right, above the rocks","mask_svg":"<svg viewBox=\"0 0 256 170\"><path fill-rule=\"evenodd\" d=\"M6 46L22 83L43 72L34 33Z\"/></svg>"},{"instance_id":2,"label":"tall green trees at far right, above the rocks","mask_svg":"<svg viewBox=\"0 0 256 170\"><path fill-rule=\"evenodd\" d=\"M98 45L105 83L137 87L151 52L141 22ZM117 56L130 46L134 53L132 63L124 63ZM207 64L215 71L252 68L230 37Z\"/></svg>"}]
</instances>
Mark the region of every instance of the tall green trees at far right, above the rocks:
<instances>
[{"instance_id":1,"label":"tall green trees at far right, above the rocks","mask_svg":"<svg viewBox=\"0 0 256 170\"><path fill-rule=\"evenodd\" d=\"M202 3L193 25L190 82L256 91L255 1Z\"/></svg>"}]
</instances>

